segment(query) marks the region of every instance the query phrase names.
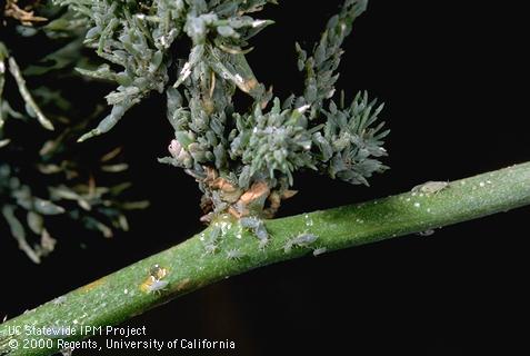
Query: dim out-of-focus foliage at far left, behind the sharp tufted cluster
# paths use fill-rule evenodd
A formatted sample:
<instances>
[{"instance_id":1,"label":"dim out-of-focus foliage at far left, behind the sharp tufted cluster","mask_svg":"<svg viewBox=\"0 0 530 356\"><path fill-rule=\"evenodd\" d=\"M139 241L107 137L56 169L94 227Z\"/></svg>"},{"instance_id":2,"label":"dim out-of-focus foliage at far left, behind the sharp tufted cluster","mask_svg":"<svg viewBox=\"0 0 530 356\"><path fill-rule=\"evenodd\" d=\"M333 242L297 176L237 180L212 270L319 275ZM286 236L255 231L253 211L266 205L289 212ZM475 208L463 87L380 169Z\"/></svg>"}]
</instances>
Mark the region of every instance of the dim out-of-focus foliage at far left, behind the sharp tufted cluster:
<instances>
[{"instance_id":1,"label":"dim out-of-focus foliage at far left, behind the sharp tufted cluster","mask_svg":"<svg viewBox=\"0 0 530 356\"><path fill-rule=\"evenodd\" d=\"M8 6L16 7L16 2L8 1ZM101 158L72 149L79 132L100 110L97 101L88 110L78 110L66 91L71 89L53 82L72 78L73 67L86 62L78 40L84 27L68 21L71 13L58 17L57 8L42 11L52 21L22 31L23 36L13 31L14 23L0 24L0 222L7 222L20 249L34 263L53 250L52 236L61 235L61 224L53 224L52 217L79 221L111 237L114 229L128 230L126 210L146 207L144 201L124 199L130 182L110 185L112 175L122 175L128 168L120 149L110 149ZM20 68L17 59L27 62L27 53L19 48L37 34L61 38L63 46L43 50L39 62ZM13 42L17 46L9 46ZM46 85L33 88L36 76ZM80 80L79 76L73 80ZM56 128L54 132L36 127L34 120L44 129Z\"/></svg>"}]
</instances>

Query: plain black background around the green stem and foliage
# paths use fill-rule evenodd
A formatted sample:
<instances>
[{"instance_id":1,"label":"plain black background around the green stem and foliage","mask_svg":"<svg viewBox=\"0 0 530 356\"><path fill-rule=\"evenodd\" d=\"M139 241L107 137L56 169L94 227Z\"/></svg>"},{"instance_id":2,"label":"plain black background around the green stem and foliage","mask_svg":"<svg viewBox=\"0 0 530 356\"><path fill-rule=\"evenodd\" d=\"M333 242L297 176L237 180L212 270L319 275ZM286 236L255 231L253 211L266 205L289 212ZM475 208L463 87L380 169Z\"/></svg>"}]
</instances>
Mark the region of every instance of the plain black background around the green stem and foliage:
<instances>
[{"instance_id":1,"label":"plain black background around the green stem and foliage","mask_svg":"<svg viewBox=\"0 0 530 356\"><path fill-rule=\"evenodd\" d=\"M293 42L308 48L339 3L283 1L261 14L277 24L258 36L249 58L258 78L280 97L301 88ZM296 179L301 192L284 204L281 216L530 159L529 22L522 2L486 3L370 1L346 43L339 87L348 97L368 89L387 103L383 118L392 132L386 164L392 169L372 179L371 188L301 174ZM41 266L2 236L1 316L33 308L201 229L193 179L156 161L172 135L163 98L146 100L109 135L124 145L131 179L151 208L133 216L131 234L111 240L62 238ZM511 349L528 348L529 212L523 208L431 237L254 270L128 325L146 325L149 337L163 340L236 340L237 350L224 355L514 355Z\"/></svg>"}]
</instances>

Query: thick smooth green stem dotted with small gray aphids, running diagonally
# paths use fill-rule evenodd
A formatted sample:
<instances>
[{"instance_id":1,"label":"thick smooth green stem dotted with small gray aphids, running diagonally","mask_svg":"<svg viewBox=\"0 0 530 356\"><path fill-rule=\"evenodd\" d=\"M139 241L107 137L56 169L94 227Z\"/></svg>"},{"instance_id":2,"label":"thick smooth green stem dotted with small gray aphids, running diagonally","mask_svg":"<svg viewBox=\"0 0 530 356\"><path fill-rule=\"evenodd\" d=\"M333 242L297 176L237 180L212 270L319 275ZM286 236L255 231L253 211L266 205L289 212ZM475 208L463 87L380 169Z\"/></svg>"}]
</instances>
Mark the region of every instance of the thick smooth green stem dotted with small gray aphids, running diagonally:
<instances>
[{"instance_id":1,"label":"thick smooth green stem dotted with small gray aphids, running diagonally","mask_svg":"<svg viewBox=\"0 0 530 356\"><path fill-rule=\"evenodd\" d=\"M49 301L0 326L0 355L50 355L54 349L11 348L22 339L8 328L111 326L227 277L310 255L480 218L530 205L530 162L359 205L266 221L268 245L223 217L189 240ZM49 339L58 344L58 338ZM48 338L47 338L48 339ZM16 340L16 342L13 342ZM56 347L57 348L57 347Z\"/></svg>"}]
</instances>

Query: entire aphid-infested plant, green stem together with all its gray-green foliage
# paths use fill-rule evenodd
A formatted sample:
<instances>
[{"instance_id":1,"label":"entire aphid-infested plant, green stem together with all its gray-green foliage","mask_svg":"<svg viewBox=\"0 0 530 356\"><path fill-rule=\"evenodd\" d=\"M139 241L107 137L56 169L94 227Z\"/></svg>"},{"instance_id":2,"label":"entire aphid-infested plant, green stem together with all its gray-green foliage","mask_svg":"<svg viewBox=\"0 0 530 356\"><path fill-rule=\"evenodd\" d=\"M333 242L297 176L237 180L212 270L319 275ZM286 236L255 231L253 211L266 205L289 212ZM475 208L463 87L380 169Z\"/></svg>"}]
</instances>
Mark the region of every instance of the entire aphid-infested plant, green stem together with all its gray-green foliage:
<instances>
[{"instance_id":1,"label":"entire aphid-infested plant, green stem together with all its gray-green foliage","mask_svg":"<svg viewBox=\"0 0 530 356\"><path fill-rule=\"evenodd\" d=\"M80 327L117 325L253 268L411 233L429 236L442 226L530 205L527 162L452 182L428 181L398 196L353 206L263 219L273 216L281 201L296 194L291 187L299 170L312 169L331 178L368 185L368 178L387 168L379 158L386 155L382 139L388 131L382 130L382 123L376 123L382 106L369 100L364 92L349 105L343 95L334 99L341 46L353 21L364 11L366 0L346 0L340 13L329 20L311 55L296 46L304 89L283 100L273 98L272 90L254 77L246 59L250 39L271 23L249 13L272 1L54 2L70 6L77 17L70 21L72 13L68 12L68 21L50 23L53 36L63 36L70 26L89 27L84 43L107 61L97 69L83 62L78 71L118 85L107 96L112 106L110 113L80 140L109 131L127 110L152 91L164 92L174 139L169 145L170 157L161 161L186 169L199 182L203 191L201 205L207 212L203 220L211 224L173 248L3 323L0 355L49 355L60 348L54 337L8 333L18 327L74 329L74 335L61 335L61 339L64 336L67 342L74 342L87 337L78 332ZM70 44L78 48L79 42ZM54 59L56 69L79 65L78 57L66 56L72 49L70 44L46 57ZM40 92L31 90L23 79L28 78L26 75L42 75L47 70L39 66L26 68L27 71L19 69L13 59L18 55L12 53L12 47L11 51L8 48L0 48L0 93L7 78L7 60L27 112L20 113L17 106L13 109L4 100L0 106L1 122L8 116L9 125L14 118L27 121L34 117L47 126L43 112L49 112L46 109L51 102L64 103L60 100L62 93L48 88ZM237 110L236 90L251 97L250 108ZM11 103L11 97L9 100ZM59 119L64 118L57 112L71 109L67 102L62 111L49 115L49 122L62 128ZM127 168L116 161L119 149L98 159L90 170L78 165L78 157L66 154L71 136L84 131L89 118L90 115L79 125L68 120L68 130L58 138L50 139L52 134L46 131L49 136L42 140L46 144L39 145L39 159L27 160L29 165L17 164L11 155L17 154L16 147L22 147L23 136L10 135L7 125L0 130L0 155L9 150L9 155L0 156L1 212L19 246L36 261L54 245L48 226L44 228L44 216L69 211L72 218L106 236L111 231L96 215L127 228L122 215L127 205L120 204L119 198L128 184L110 188L100 185L104 174ZM8 138L12 140L7 141ZM36 166L34 161L39 164ZM52 175L60 175L62 179L57 180L61 182L48 179ZM42 181L24 180L34 176ZM27 216L28 228L40 236L38 248L28 243L21 215ZM36 342L40 346L43 342L47 347L19 348L22 338L29 345ZM53 347L48 347L49 342Z\"/></svg>"}]
</instances>

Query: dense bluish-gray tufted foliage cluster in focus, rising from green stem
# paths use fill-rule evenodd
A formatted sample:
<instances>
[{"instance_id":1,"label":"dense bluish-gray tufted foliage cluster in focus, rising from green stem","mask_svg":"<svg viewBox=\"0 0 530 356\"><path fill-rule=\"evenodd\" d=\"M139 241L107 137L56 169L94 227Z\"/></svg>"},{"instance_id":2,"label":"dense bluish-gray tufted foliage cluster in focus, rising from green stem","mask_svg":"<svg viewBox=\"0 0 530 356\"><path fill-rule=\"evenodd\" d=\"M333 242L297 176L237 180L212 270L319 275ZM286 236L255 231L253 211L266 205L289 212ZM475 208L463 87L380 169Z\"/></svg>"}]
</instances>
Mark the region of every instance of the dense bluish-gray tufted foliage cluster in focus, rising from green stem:
<instances>
[{"instance_id":1,"label":"dense bluish-gray tufted foliage cluster in focus, rising from green stem","mask_svg":"<svg viewBox=\"0 0 530 356\"><path fill-rule=\"evenodd\" d=\"M276 1L54 1L87 21L86 43L108 62L81 71L118 83L107 97L110 113L81 140L108 131L149 92L166 91L174 140L161 161L199 181L207 211L244 216L260 201L258 212L270 205L273 214L302 169L364 185L386 169L378 158L388 132L373 127L382 106L367 93L348 107L333 101L341 46L367 0L347 0L309 53L297 43L303 92L272 102L246 53L272 23L254 13ZM248 112L234 112L236 90L253 98Z\"/></svg>"}]
</instances>

